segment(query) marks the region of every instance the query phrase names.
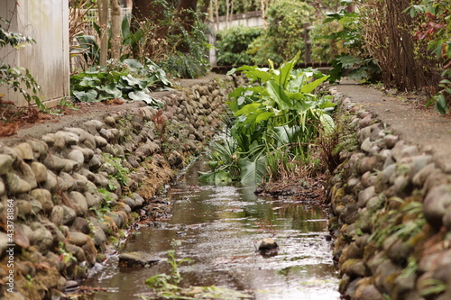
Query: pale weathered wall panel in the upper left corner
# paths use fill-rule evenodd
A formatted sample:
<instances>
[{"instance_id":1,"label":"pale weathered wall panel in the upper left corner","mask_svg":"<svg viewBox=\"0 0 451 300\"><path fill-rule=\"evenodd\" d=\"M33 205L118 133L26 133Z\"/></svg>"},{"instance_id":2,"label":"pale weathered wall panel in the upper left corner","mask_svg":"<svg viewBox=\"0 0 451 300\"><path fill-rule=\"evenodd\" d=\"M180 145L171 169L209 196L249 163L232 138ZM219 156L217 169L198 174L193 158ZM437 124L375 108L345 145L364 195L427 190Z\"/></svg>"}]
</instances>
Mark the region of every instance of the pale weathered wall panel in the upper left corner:
<instances>
[{"instance_id":1,"label":"pale weathered wall panel in the upper left corner","mask_svg":"<svg viewBox=\"0 0 451 300\"><path fill-rule=\"evenodd\" d=\"M50 103L69 95L69 0L1 0L0 16L11 20L11 32L32 37L36 43L5 49L5 63L28 68ZM4 99L27 105L22 95L0 86Z\"/></svg>"}]
</instances>

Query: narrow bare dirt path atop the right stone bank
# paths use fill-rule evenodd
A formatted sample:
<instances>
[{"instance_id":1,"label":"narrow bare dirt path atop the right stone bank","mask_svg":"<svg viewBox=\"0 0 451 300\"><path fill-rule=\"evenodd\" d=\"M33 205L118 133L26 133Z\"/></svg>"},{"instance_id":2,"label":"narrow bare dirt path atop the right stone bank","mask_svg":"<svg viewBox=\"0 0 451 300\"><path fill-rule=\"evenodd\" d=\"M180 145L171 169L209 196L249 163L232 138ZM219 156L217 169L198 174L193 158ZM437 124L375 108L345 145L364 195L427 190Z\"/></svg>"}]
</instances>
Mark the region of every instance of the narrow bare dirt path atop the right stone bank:
<instances>
[{"instance_id":1,"label":"narrow bare dirt path atop the right stone bank","mask_svg":"<svg viewBox=\"0 0 451 300\"><path fill-rule=\"evenodd\" d=\"M334 86L336 91L348 96L352 102L363 105L390 125L392 131L425 153L432 154L437 166L444 172L451 171L451 119L433 110L420 109L411 100L385 95L382 91L342 80Z\"/></svg>"}]
</instances>

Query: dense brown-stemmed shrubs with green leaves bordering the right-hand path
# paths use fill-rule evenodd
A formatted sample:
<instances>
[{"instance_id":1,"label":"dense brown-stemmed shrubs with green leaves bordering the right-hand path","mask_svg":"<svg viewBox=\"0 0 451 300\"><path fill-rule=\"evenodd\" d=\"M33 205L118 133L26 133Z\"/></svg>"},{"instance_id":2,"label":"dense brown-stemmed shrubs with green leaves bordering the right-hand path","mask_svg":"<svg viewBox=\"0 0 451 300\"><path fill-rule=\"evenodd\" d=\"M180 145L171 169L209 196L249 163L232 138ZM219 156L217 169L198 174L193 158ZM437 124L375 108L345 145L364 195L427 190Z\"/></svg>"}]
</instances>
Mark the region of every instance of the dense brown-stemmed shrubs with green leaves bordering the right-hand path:
<instances>
[{"instance_id":1,"label":"dense brown-stemmed shrubs with green leaves bordering the right-hand path","mask_svg":"<svg viewBox=\"0 0 451 300\"><path fill-rule=\"evenodd\" d=\"M351 77L382 80L400 91L423 90L446 114L451 101L451 1L450 0L347 0L355 5L330 14L343 30L329 34L345 41L345 50L333 61L331 80L353 68Z\"/></svg>"}]
</instances>

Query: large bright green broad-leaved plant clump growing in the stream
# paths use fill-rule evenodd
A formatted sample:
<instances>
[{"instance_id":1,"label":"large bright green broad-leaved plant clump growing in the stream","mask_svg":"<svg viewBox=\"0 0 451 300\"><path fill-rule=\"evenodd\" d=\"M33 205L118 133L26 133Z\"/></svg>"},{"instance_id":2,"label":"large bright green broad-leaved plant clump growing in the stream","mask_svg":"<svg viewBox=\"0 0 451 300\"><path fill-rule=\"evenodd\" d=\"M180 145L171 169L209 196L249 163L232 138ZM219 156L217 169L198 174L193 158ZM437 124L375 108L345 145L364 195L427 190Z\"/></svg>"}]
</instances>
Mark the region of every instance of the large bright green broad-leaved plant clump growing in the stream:
<instances>
[{"instance_id":1,"label":"large bright green broad-leaved plant clump growing in the stream","mask_svg":"<svg viewBox=\"0 0 451 300\"><path fill-rule=\"evenodd\" d=\"M318 137L332 132L330 116L335 105L329 95L314 91L327 80L318 70L294 69L299 53L280 68L243 66L250 81L238 87L227 103L233 125L222 141L212 147L211 172L200 179L229 182L239 178L244 183L261 183L283 172L295 172L301 162L308 162L308 150Z\"/></svg>"}]
</instances>

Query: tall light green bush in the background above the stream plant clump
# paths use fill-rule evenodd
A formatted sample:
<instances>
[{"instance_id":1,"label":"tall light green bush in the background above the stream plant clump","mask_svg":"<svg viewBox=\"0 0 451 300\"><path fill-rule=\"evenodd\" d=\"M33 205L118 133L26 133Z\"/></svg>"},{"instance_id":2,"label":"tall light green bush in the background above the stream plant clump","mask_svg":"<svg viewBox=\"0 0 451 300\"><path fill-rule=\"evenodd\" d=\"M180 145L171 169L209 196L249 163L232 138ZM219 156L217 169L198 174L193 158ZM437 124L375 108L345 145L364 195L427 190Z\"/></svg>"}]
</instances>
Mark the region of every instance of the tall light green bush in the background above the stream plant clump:
<instances>
[{"instance_id":1,"label":"tall light green bush in the background above the stream plant clump","mask_svg":"<svg viewBox=\"0 0 451 300\"><path fill-rule=\"evenodd\" d=\"M303 24L315 17L312 6L295 0L276 1L269 6L267 17L266 30L249 47L255 64L267 64L267 59L280 64L304 51Z\"/></svg>"}]
</instances>

